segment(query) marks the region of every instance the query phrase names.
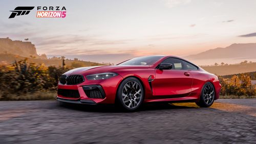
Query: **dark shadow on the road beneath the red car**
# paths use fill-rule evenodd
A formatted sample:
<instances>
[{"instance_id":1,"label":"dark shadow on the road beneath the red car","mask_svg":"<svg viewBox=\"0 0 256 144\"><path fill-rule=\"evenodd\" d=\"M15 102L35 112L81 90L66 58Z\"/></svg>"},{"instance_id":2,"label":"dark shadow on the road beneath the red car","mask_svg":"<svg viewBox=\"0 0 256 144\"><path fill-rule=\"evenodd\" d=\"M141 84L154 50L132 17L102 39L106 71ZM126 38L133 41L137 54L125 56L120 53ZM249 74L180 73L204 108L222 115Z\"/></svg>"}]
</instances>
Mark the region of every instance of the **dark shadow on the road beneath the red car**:
<instances>
[{"instance_id":1,"label":"dark shadow on the road beneath the red car","mask_svg":"<svg viewBox=\"0 0 256 144\"><path fill-rule=\"evenodd\" d=\"M123 113L129 112L125 111L115 105L77 105L69 103L59 103L62 108L86 111L86 112L99 112L99 113ZM155 110L172 110L172 109L195 109L198 108L195 103L185 102L185 103L168 103L168 102L152 102L150 104L143 104L141 108L135 112L141 111L155 111Z\"/></svg>"}]
</instances>

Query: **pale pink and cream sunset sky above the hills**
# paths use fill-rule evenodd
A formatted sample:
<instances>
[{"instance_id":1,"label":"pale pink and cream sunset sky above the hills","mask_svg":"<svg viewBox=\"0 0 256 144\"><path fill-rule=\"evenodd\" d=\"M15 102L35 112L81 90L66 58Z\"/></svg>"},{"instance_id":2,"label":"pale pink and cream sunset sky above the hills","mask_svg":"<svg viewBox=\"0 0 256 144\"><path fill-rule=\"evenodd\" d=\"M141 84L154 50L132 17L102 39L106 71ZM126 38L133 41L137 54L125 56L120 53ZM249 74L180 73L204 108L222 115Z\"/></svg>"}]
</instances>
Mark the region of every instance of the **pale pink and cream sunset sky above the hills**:
<instances>
[{"instance_id":1,"label":"pale pink and cream sunset sky above the hills","mask_svg":"<svg viewBox=\"0 0 256 144\"><path fill-rule=\"evenodd\" d=\"M18 6L35 6L8 18ZM65 6L65 18L37 18L37 6ZM0 37L29 41L38 54L118 63L143 55L196 54L256 42L256 1L1 1Z\"/></svg>"}]
</instances>

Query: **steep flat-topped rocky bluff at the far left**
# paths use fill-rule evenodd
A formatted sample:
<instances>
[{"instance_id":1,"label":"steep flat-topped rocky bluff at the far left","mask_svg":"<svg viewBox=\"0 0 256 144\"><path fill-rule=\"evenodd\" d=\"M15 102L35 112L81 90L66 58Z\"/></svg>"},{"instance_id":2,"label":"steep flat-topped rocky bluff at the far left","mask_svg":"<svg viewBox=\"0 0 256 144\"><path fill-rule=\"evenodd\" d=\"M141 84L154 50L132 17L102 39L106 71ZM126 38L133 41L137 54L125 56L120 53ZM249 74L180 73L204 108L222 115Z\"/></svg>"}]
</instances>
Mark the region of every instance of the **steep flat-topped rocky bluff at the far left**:
<instances>
[{"instance_id":1,"label":"steep flat-topped rocky bluff at the far left","mask_svg":"<svg viewBox=\"0 0 256 144\"><path fill-rule=\"evenodd\" d=\"M11 40L10 38L0 38L0 53L38 57L35 45L31 42Z\"/></svg>"}]
</instances>

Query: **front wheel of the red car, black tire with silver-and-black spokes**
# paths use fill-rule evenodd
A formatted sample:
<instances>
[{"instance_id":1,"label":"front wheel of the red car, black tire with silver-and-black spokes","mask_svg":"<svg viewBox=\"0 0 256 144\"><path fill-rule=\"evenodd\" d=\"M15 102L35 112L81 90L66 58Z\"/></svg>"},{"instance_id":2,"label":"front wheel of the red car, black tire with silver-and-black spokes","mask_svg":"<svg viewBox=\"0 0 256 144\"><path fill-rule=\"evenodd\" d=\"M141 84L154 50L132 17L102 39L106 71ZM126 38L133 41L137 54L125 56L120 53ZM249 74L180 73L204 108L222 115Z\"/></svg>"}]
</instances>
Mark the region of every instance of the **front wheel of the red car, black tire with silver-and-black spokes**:
<instances>
[{"instance_id":1,"label":"front wheel of the red car, black tire with silver-and-black spokes","mask_svg":"<svg viewBox=\"0 0 256 144\"><path fill-rule=\"evenodd\" d=\"M143 101L144 89L140 81L135 77L124 79L118 87L116 103L123 110L135 111Z\"/></svg>"}]
</instances>

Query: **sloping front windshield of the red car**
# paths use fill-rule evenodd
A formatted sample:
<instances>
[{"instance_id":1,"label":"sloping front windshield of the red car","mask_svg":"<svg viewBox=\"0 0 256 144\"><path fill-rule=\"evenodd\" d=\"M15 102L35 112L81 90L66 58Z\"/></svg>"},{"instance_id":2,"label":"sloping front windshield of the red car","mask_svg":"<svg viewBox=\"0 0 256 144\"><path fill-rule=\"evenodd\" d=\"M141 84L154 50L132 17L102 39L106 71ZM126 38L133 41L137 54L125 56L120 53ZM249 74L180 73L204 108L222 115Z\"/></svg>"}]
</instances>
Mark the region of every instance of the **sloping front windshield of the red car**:
<instances>
[{"instance_id":1,"label":"sloping front windshield of the red car","mask_svg":"<svg viewBox=\"0 0 256 144\"><path fill-rule=\"evenodd\" d=\"M124 61L118 65L142 65L142 66L151 66L156 63L157 60L162 58L163 56L143 56L143 57L136 57L127 61Z\"/></svg>"}]
</instances>

